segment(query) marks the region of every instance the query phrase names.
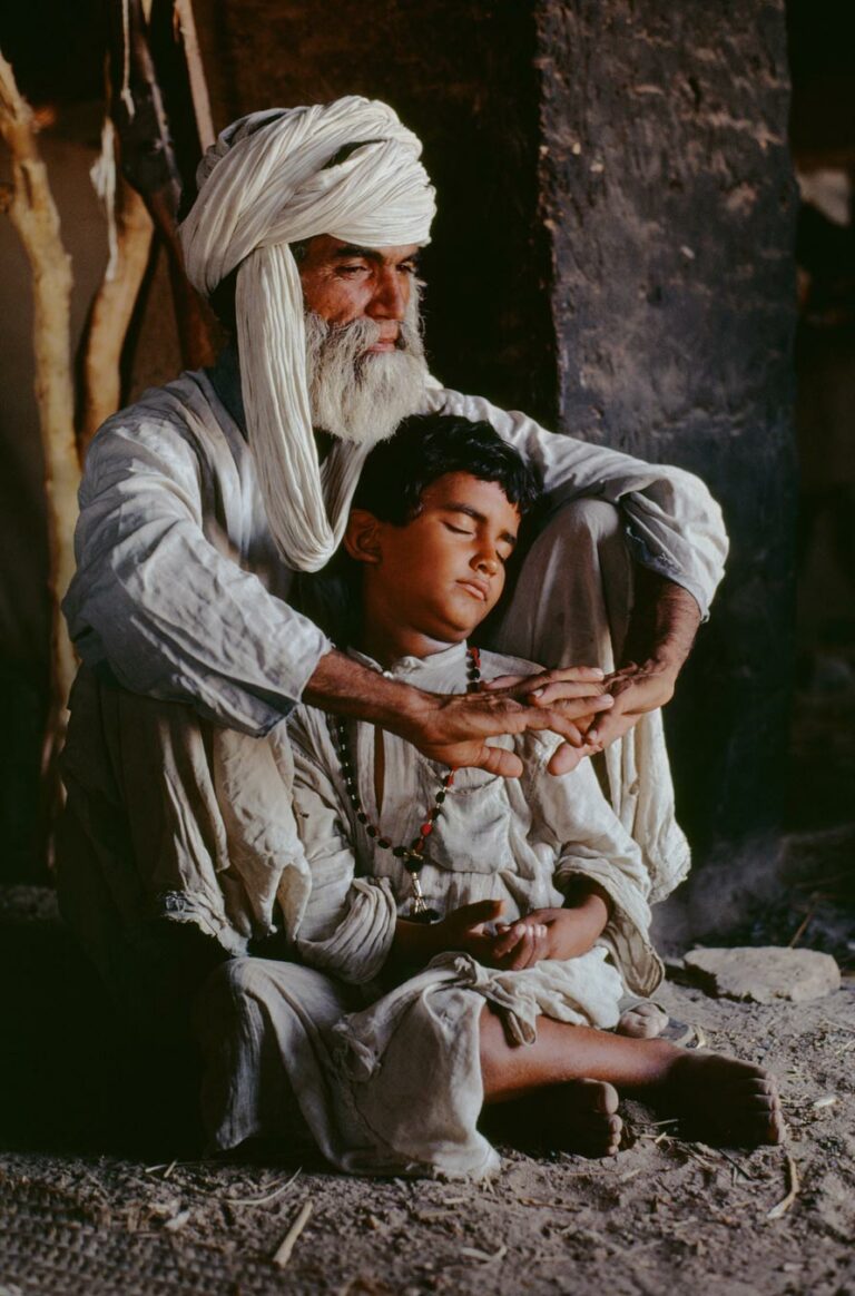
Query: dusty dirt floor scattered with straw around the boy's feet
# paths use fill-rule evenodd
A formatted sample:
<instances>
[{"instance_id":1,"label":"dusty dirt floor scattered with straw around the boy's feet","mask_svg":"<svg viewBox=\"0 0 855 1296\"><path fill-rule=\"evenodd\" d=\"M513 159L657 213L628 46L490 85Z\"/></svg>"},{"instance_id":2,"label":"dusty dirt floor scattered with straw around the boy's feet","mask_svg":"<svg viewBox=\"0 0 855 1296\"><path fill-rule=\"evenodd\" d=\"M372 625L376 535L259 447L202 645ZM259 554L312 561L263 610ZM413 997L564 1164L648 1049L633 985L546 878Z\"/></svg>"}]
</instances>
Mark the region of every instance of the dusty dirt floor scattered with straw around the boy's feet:
<instances>
[{"instance_id":1,"label":"dusty dirt floor scattered with straw around the boy's feet","mask_svg":"<svg viewBox=\"0 0 855 1296\"><path fill-rule=\"evenodd\" d=\"M670 984L663 998L711 1046L779 1076L785 1147L679 1142L633 1105L630 1146L614 1160L509 1152L482 1187L347 1179L288 1155L150 1165L10 1152L0 1293L855 1296L855 978L802 1006L725 1003ZM307 1201L279 1269L272 1257Z\"/></svg>"}]
</instances>

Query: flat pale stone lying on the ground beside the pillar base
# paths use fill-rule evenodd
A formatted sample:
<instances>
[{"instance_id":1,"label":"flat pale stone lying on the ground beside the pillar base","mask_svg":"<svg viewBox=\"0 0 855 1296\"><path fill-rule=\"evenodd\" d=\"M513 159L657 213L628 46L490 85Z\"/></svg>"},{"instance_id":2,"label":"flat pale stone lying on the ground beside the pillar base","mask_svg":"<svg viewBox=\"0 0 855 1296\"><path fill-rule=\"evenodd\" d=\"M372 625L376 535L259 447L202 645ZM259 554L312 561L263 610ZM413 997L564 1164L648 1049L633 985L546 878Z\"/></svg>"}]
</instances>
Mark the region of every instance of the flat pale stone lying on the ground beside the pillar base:
<instances>
[{"instance_id":1,"label":"flat pale stone lying on the ground beside the pillar base","mask_svg":"<svg viewBox=\"0 0 855 1296\"><path fill-rule=\"evenodd\" d=\"M733 950L690 950L683 960L697 984L719 999L804 1003L839 989L841 973L830 954L775 945Z\"/></svg>"}]
</instances>

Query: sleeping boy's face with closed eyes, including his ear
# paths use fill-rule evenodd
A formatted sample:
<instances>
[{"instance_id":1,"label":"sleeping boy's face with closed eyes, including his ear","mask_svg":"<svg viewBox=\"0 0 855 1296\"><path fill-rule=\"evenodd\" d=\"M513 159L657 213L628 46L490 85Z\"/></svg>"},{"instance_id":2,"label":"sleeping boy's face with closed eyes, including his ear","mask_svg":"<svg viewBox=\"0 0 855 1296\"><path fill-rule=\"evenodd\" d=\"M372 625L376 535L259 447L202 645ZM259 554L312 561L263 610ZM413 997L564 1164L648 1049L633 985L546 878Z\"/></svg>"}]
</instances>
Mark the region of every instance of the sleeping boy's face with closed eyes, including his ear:
<instances>
[{"instance_id":1,"label":"sleeping boy's face with closed eyes, including his ear","mask_svg":"<svg viewBox=\"0 0 855 1296\"><path fill-rule=\"evenodd\" d=\"M501 596L519 513L496 482L447 473L426 487L412 521L373 526L367 610L431 643L457 643Z\"/></svg>"}]
</instances>

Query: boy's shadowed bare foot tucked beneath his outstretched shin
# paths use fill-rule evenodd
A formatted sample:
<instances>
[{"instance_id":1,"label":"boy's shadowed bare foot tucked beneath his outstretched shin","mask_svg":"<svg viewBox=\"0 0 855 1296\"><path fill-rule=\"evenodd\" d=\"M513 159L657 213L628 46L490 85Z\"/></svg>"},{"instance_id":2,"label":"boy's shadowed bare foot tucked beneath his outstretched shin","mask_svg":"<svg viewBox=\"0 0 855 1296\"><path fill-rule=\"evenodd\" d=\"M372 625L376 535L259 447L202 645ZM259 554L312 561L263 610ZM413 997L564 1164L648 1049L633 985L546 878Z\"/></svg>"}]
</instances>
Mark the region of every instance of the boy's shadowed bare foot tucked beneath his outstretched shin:
<instances>
[{"instance_id":1,"label":"boy's shadowed bare foot tucked beneath his outstretched shin","mask_svg":"<svg viewBox=\"0 0 855 1296\"><path fill-rule=\"evenodd\" d=\"M623 1121L618 1091L605 1080L569 1080L547 1085L526 1098L494 1107L503 1113L501 1134L512 1143L540 1152L614 1156Z\"/></svg>"}]
</instances>

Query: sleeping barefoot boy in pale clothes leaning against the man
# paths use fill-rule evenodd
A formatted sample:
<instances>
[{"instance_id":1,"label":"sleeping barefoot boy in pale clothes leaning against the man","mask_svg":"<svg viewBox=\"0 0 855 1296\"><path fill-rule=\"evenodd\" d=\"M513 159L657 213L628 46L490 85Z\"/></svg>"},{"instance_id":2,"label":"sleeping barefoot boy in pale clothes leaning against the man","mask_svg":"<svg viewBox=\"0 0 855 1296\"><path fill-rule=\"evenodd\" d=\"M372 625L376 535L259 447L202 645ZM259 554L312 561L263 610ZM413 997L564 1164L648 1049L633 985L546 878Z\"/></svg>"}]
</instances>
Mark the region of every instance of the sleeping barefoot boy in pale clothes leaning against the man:
<instances>
[{"instance_id":1,"label":"sleeping barefoot boy in pale clothes leaning against the man","mask_svg":"<svg viewBox=\"0 0 855 1296\"><path fill-rule=\"evenodd\" d=\"M487 424L405 420L368 457L345 537L352 654L442 695L531 673L468 642L501 596L536 494ZM602 691L592 715L609 705L596 675L579 671L582 696ZM610 1155L615 1085L707 1140L780 1140L775 1085L758 1067L609 1033L624 988L649 994L662 966L645 863L589 761L553 776L558 739L525 732L496 743L495 767L518 778L450 771L312 708L289 735L311 876L285 903L289 928L301 959L361 988L365 1006L337 1010L323 978L317 1008L298 1004L312 1021L312 1067L326 1059L319 1086L282 1043L272 969L253 997L332 1160L363 1173L484 1174L497 1159L478 1120L499 1103L554 1148ZM293 1012L291 990L288 1003Z\"/></svg>"}]
</instances>

